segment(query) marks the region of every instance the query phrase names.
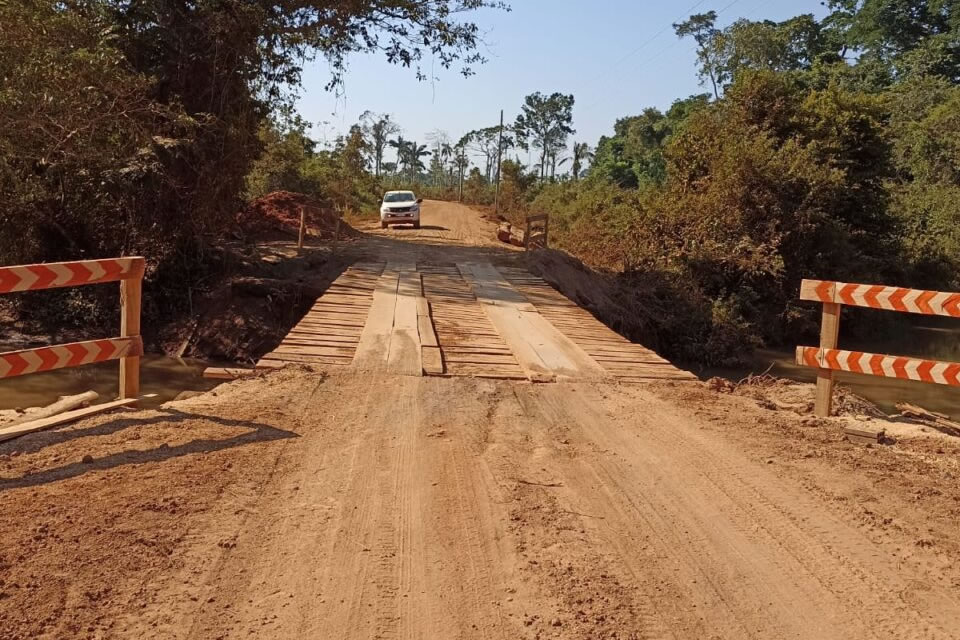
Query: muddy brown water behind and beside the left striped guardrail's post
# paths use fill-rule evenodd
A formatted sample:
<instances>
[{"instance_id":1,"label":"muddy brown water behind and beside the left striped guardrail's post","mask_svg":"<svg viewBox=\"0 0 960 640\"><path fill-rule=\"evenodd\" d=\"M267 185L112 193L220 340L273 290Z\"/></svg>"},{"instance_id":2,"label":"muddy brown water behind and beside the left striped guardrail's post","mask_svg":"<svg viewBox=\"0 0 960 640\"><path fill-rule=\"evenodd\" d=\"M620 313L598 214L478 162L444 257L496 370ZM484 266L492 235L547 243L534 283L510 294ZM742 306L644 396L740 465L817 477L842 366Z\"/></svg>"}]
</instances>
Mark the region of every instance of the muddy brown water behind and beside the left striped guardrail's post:
<instances>
[{"instance_id":1,"label":"muddy brown water behind and beside the left striped guardrail's post","mask_svg":"<svg viewBox=\"0 0 960 640\"><path fill-rule=\"evenodd\" d=\"M44 406L58 396L91 390L100 394L100 402L112 400L117 397L119 366L117 362L105 362L0 380L0 409ZM142 401L140 406L159 406L183 391L212 389L219 382L202 377L206 366L200 360L145 356L140 369L141 393L156 397Z\"/></svg>"}]
</instances>

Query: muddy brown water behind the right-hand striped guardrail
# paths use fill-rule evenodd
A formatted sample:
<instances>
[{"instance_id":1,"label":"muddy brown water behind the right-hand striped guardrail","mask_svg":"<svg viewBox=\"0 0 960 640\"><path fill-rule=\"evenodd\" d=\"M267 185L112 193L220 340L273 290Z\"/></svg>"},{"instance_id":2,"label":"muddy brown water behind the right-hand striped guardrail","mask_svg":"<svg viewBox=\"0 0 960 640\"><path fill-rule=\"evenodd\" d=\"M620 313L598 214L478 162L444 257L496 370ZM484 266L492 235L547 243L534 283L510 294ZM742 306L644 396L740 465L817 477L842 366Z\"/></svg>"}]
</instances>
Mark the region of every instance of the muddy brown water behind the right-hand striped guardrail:
<instances>
[{"instance_id":1,"label":"muddy brown water behind the right-hand striped guardrail","mask_svg":"<svg viewBox=\"0 0 960 640\"><path fill-rule=\"evenodd\" d=\"M855 349L872 353L913 356L930 360L960 362L960 323L943 323L939 326L919 325L903 332L897 339L844 343L841 349ZM770 373L784 378L812 382L816 379L812 369L798 367L794 354L786 351L761 351L750 368L750 373L762 373L772 366ZM744 372L737 372L741 374ZM838 372L836 380L854 393L867 398L881 409L893 413L895 404L909 402L945 413L960 420L960 388L937 384L910 382L892 378L878 378Z\"/></svg>"}]
</instances>

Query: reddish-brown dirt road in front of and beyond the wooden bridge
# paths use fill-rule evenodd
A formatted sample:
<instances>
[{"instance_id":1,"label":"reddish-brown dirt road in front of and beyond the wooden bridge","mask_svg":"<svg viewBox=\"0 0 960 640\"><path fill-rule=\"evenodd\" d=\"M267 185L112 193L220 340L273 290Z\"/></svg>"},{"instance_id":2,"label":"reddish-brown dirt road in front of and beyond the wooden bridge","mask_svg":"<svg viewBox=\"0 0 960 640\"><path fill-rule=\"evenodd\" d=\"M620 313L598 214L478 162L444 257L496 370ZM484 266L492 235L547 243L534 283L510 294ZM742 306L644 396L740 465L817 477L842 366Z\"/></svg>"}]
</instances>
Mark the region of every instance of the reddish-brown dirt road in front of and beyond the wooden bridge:
<instances>
[{"instance_id":1,"label":"reddish-brown dirt road in front of and beyond the wooden bridge","mask_svg":"<svg viewBox=\"0 0 960 640\"><path fill-rule=\"evenodd\" d=\"M437 208L355 250L487 250ZM0 445L0 638L957 638L958 454L696 383L287 368Z\"/></svg>"}]
</instances>

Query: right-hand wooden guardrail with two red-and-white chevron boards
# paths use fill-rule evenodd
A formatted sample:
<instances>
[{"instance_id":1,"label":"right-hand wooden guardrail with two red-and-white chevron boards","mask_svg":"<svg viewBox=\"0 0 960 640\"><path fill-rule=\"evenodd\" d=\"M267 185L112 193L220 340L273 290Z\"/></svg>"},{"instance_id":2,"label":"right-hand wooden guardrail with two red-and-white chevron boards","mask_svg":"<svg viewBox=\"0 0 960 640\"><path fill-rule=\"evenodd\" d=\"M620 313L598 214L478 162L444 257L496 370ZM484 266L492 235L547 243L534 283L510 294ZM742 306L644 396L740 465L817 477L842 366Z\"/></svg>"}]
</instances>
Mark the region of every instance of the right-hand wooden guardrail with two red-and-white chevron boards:
<instances>
[{"instance_id":1,"label":"right-hand wooden guardrail with two red-and-white chevron boards","mask_svg":"<svg viewBox=\"0 0 960 640\"><path fill-rule=\"evenodd\" d=\"M960 386L960 363L837 349L843 305L960 318L960 293L804 280L800 299L823 303L820 347L797 347L797 364L817 370L818 416L830 415L834 371Z\"/></svg>"}]
</instances>

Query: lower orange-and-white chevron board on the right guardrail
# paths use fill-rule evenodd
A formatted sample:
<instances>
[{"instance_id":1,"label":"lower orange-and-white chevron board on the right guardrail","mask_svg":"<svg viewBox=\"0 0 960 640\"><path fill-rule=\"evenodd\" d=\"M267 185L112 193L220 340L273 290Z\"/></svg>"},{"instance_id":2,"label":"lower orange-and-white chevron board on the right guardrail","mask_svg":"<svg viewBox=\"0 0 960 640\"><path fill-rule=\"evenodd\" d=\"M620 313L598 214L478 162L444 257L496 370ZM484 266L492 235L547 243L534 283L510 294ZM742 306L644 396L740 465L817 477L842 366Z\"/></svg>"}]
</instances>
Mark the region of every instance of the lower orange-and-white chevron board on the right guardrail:
<instances>
[{"instance_id":1,"label":"lower orange-and-white chevron board on the right guardrail","mask_svg":"<svg viewBox=\"0 0 960 640\"><path fill-rule=\"evenodd\" d=\"M886 356L862 351L797 347L797 364L817 369L849 371L882 378L900 378L960 387L960 364Z\"/></svg>"}]
</instances>

